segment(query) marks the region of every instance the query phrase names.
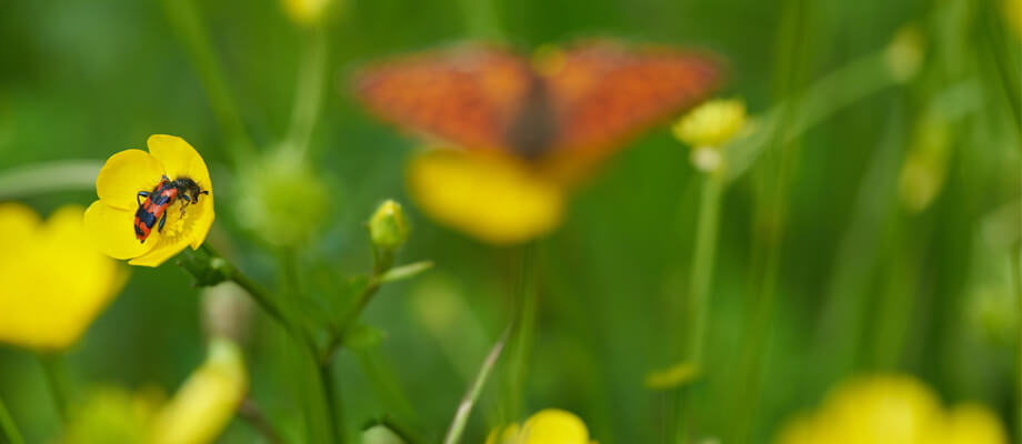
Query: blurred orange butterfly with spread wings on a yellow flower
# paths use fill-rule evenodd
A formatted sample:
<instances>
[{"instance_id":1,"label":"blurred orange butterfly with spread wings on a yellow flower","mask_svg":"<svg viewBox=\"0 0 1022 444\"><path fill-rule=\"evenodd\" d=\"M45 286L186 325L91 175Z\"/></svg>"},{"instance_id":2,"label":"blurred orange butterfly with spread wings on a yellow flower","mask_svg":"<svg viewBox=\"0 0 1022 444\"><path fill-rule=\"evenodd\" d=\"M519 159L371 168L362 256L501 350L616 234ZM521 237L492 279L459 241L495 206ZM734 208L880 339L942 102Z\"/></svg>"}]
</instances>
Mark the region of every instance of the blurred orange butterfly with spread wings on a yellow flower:
<instances>
[{"instance_id":1,"label":"blurred orange butterfly with spread wings on a yellow flower","mask_svg":"<svg viewBox=\"0 0 1022 444\"><path fill-rule=\"evenodd\" d=\"M398 125L530 162L603 158L720 83L717 59L590 41L542 63L464 44L399 57L355 77L355 95Z\"/></svg>"}]
</instances>

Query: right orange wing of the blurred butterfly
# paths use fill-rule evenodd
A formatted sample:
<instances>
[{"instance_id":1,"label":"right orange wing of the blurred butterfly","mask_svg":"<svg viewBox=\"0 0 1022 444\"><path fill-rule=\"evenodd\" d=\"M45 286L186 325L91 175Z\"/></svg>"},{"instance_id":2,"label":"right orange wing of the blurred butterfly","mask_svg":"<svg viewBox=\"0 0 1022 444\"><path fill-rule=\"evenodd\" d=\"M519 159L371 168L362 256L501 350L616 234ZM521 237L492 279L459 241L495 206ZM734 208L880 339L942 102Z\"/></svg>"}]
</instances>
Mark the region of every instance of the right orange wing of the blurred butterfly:
<instances>
[{"instance_id":1,"label":"right orange wing of the blurred butterfly","mask_svg":"<svg viewBox=\"0 0 1022 444\"><path fill-rule=\"evenodd\" d=\"M715 59L661 47L583 43L547 73L561 155L600 158L704 99L720 83Z\"/></svg>"}]
</instances>

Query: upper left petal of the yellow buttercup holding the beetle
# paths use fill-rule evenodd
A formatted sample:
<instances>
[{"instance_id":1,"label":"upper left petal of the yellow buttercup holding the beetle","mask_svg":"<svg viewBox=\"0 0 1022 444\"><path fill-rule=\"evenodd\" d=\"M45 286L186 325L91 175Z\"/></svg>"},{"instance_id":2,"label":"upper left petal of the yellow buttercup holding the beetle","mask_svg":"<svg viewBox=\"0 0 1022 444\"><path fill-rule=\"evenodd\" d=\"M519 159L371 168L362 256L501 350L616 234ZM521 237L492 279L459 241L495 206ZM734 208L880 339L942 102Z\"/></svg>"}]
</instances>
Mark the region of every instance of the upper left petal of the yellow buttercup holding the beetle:
<instances>
[{"instance_id":1,"label":"upper left petal of the yellow buttercup holding the beetle","mask_svg":"<svg viewBox=\"0 0 1022 444\"><path fill-rule=\"evenodd\" d=\"M139 208L139 191L160 183L163 165L142 150L124 150L107 159L96 179L96 193L107 205L122 210Z\"/></svg>"}]
</instances>

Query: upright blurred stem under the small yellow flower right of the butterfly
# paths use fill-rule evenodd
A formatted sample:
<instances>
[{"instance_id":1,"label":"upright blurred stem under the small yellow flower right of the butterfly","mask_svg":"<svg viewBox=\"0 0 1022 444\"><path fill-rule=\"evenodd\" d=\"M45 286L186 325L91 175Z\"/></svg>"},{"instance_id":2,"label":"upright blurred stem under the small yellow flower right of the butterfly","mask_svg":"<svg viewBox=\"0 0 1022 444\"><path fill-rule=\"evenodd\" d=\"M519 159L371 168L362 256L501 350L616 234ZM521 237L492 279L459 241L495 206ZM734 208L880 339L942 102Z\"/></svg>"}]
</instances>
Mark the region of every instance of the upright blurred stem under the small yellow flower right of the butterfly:
<instances>
[{"instance_id":1,"label":"upright blurred stem under the small yellow flower right of the butterfly","mask_svg":"<svg viewBox=\"0 0 1022 444\"><path fill-rule=\"evenodd\" d=\"M690 327L682 343L685 344L685 362L693 365L698 374L705 374L703 350L710 317L710 287L713 279L713 261L717 254L717 233L720 224L723 175L718 172L705 174L699 199L699 220L695 225L695 249L692 252L691 281L689 282L688 313ZM687 443L691 410L691 387L681 386L675 398L677 411L671 416L673 441Z\"/></svg>"}]
</instances>

